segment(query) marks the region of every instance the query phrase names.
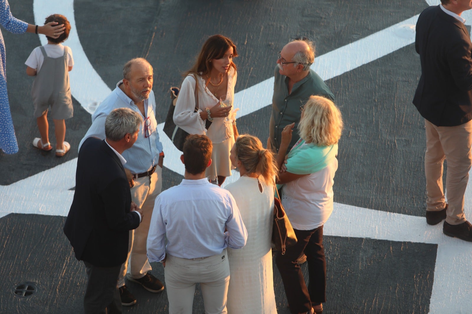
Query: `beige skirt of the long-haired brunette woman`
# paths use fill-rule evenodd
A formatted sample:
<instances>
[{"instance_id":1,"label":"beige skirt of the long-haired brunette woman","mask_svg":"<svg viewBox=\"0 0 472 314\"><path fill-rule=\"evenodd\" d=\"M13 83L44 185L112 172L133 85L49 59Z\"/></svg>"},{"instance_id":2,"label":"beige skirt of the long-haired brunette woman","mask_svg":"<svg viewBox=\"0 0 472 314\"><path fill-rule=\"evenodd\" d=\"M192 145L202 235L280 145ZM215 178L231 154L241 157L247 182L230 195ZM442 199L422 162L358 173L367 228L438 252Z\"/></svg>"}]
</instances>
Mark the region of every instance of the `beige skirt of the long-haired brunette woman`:
<instances>
[{"instance_id":1,"label":"beige skirt of the long-haired brunette woman","mask_svg":"<svg viewBox=\"0 0 472 314\"><path fill-rule=\"evenodd\" d=\"M206 169L205 174L209 175L221 175L223 177L229 177L231 175L231 169L235 169L231 165L229 160L229 154L235 143L234 136L231 136L228 140L222 143L213 144L213 151L211 152L211 165Z\"/></svg>"}]
</instances>

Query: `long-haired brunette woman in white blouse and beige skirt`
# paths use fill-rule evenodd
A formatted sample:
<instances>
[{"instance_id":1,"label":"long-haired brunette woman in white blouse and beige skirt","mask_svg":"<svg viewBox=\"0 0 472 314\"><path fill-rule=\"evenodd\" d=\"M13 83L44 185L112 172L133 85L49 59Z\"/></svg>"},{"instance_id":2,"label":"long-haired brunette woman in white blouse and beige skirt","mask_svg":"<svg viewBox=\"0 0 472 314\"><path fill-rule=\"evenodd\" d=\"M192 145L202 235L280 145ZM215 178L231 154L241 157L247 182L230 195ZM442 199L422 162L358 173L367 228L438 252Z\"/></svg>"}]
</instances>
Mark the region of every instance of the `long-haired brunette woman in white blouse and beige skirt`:
<instances>
[{"instance_id":1,"label":"long-haired brunette woman in white blouse and beige skirt","mask_svg":"<svg viewBox=\"0 0 472 314\"><path fill-rule=\"evenodd\" d=\"M174 111L177 126L190 134L206 134L212 141L212 162L206 175L217 175L219 185L231 175L229 151L237 137L236 112L231 111L237 75L233 63L235 57L237 52L233 41L219 34L210 36L194 66L185 74ZM230 106L221 106L219 99L222 97L230 99ZM224 123L228 116L233 124ZM211 121L208 129L205 127L205 124L208 126L207 120Z\"/></svg>"}]
</instances>

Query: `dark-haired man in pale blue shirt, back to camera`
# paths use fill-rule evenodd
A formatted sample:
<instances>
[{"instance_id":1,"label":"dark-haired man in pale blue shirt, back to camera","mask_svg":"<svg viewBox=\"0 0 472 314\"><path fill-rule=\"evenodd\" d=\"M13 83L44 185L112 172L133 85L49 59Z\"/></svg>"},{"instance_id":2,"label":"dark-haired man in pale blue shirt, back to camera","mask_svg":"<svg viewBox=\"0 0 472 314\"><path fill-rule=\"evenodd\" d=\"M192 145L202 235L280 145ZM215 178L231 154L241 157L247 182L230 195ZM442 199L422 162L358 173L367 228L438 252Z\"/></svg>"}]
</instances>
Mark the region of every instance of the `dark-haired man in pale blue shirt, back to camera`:
<instances>
[{"instance_id":1,"label":"dark-haired man in pale blue shirt, back to camera","mask_svg":"<svg viewBox=\"0 0 472 314\"><path fill-rule=\"evenodd\" d=\"M169 314L192 313L197 282L205 313L227 313L226 248L246 244L247 231L235 199L205 176L211 150L208 137L191 135L180 157L185 179L156 198L147 254L151 262L164 264Z\"/></svg>"}]
</instances>

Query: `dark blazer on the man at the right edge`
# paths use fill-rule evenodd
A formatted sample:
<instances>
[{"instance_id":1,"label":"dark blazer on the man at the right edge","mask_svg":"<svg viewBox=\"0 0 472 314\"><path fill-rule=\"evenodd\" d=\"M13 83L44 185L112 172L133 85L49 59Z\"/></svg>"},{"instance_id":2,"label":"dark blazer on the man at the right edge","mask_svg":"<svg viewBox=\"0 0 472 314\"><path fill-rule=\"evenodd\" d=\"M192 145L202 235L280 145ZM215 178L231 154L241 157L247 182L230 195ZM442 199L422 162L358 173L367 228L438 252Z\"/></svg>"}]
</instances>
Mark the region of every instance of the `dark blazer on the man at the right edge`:
<instances>
[{"instance_id":1,"label":"dark blazer on the man at the right edge","mask_svg":"<svg viewBox=\"0 0 472 314\"><path fill-rule=\"evenodd\" d=\"M421 77L413 98L421 116L437 126L472 120L472 43L465 25L439 6L416 23Z\"/></svg>"}]
</instances>

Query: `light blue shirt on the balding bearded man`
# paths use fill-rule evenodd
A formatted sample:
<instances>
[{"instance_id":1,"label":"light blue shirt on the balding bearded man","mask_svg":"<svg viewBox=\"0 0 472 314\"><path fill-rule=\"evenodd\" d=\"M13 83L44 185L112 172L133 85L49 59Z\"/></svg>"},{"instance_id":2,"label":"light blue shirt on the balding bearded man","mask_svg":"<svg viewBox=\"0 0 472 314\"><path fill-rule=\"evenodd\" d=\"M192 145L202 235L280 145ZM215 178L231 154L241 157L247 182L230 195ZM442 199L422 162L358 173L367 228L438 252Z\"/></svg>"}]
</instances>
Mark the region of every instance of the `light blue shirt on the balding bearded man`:
<instances>
[{"instance_id":1,"label":"light blue shirt on the balding bearded man","mask_svg":"<svg viewBox=\"0 0 472 314\"><path fill-rule=\"evenodd\" d=\"M92 125L84 138L80 141L79 150L82 143L91 136L98 137L102 140L105 139L105 120L111 110L116 108L130 108L143 116L133 100L126 96L119 88L121 83L123 83L123 80L117 83L117 87L101 102L95 113L93 113ZM122 154L126 159L126 169L131 171L132 174L141 174L151 169L153 165L157 165L159 153L162 151L162 143L159 141L159 133L156 129L156 100L154 99L153 91L149 93L149 98L144 100L144 113L146 116L143 116L143 120L147 117L151 120L151 124L149 125L151 135L147 138L144 137L144 122L139 127L138 139L135 144L130 149L126 149Z\"/></svg>"}]
</instances>

